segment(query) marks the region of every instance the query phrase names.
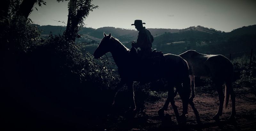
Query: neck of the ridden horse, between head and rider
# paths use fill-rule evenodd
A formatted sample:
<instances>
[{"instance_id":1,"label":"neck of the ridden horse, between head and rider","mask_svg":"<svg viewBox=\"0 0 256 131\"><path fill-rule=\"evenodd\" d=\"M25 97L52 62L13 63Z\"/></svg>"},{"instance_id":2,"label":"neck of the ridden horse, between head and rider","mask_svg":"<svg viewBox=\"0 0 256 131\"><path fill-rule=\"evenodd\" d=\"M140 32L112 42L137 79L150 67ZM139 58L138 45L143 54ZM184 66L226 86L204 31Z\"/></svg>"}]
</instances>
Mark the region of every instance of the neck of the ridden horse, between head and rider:
<instances>
[{"instance_id":1,"label":"neck of the ridden horse, between head and rider","mask_svg":"<svg viewBox=\"0 0 256 131\"><path fill-rule=\"evenodd\" d=\"M118 68L126 65L128 51L122 43L116 42L116 40L114 40L113 50L110 52Z\"/></svg>"}]
</instances>

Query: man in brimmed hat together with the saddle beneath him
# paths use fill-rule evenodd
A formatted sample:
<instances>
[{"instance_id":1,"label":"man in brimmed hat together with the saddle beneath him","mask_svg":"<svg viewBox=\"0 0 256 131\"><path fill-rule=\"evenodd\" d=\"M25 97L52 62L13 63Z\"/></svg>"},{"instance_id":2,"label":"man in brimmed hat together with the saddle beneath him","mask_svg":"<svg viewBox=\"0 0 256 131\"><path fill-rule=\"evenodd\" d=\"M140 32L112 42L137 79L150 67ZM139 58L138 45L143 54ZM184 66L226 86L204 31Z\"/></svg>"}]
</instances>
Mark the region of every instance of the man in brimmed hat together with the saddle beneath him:
<instances>
[{"instance_id":1,"label":"man in brimmed hat together with the saddle beneath him","mask_svg":"<svg viewBox=\"0 0 256 131\"><path fill-rule=\"evenodd\" d=\"M155 77L159 77L159 72L161 70L160 63L165 61L165 57L162 51L152 51L152 42L154 41L154 37L151 35L150 31L143 27L142 20L135 20L134 25L135 28L139 31L137 42L132 41L132 48L130 50L130 58L132 60L130 67L134 72L137 72L138 77L150 77L155 79ZM140 48L137 51L135 48ZM134 64L136 63L136 64ZM154 71L151 69L154 68Z\"/></svg>"}]
</instances>

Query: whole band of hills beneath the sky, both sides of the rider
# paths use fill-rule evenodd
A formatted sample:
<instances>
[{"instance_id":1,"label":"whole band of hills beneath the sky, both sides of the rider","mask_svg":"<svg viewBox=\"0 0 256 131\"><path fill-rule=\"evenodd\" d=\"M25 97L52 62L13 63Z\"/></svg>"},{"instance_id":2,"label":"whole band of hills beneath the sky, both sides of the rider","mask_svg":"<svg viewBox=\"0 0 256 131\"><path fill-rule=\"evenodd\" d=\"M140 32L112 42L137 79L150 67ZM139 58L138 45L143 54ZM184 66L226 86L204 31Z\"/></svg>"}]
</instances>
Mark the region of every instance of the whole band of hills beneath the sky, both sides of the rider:
<instances>
[{"instance_id":1,"label":"whole band of hills beneath the sky, both sides of the rider","mask_svg":"<svg viewBox=\"0 0 256 131\"><path fill-rule=\"evenodd\" d=\"M39 26L42 36L47 37L50 32L53 35L62 34L66 27ZM231 32L221 32L213 28L202 26L188 27L185 29L158 29L148 28L154 36L153 48L164 53L180 54L186 50L197 50L205 54L228 54L244 50L256 49L256 25L241 27ZM138 31L131 29L101 27L98 29L83 27L79 31L82 37L79 42L88 45L84 51L92 53L97 48L103 37L103 32L111 33L128 48L131 41L137 39ZM94 45L93 45L94 44Z\"/></svg>"}]
</instances>

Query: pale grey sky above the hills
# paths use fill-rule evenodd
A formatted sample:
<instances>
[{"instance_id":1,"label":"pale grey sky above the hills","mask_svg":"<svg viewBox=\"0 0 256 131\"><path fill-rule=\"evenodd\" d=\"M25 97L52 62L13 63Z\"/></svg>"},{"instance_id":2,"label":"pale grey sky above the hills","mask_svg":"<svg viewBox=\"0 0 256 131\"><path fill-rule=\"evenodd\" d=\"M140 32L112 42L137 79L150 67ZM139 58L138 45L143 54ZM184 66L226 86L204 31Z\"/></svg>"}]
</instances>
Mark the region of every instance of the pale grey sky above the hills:
<instances>
[{"instance_id":1,"label":"pale grey sky above the hills","mask_svg":"<svg viewBox=\"0 0 256 131\"><path fill-rule=\"evenodd\" d=\"M62 25L67 23L68 2L44 0L46 5L29 18L39 25ZM225 32L256 24L256 0L94 0L99 8L84 20L86 27L131 26L135 19L145 22L146 28L183 29L203 26ZM54 21L57 20L57 21Z\"/></svg>"}]
</instances>

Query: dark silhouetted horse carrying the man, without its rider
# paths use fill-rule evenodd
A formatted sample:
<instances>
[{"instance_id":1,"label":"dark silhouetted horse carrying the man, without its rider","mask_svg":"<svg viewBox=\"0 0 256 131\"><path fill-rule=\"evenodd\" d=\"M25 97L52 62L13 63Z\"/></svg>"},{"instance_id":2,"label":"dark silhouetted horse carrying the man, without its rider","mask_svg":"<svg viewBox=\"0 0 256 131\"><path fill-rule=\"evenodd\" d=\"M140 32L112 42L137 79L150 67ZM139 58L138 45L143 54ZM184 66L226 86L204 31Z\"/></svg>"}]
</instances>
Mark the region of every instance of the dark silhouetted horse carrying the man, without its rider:
<instances>
[{"instance_id":1,"label":"dark silhouetted horse carrying the man, without its rider","mask_svg":"<svg viewBox=\"0 0 256 131\"><path fill-rule=\"evenodd\" d=\"M185 114L188 114L188 103L192 106L192 109L196 114L197 110L194 106L193 101L189 101L191 90L189 85L190 81L188 78L189 76L188 64L183 58L177 55L165 54L164 55L165 61L161 66L161 70L159 70L159 68L158 69L155 68L155 69L150 69L152 71L157 70L157 72L154 72L152 74L148 74L148 73L138 74L134 72L134 70L136 70L135 69L136 66L132 66L137 63L132 63L133 59L135 58L132 58L129 55L128 49L116 38L111 37L111 34L106 35L104 33L104 37L102 38L99 46L95 50L93 56L94 58L100 58L107 52L111 52L121 77L121 81L120 83L118 83L116 92L118 91L118 88L122 87L124 84L127 85L129 90L128 92L131 95L129 99L131 102L130 103L131 108L133 110L136 110L136 105L134 102L134 93L133 93L133 81L153 81L153 80L159 80L161 78L165 78L166 81L168 82L168 97L164 106L158 111L158 114L160 116L163 116L164 110L167 110L169 103L171 103L175 116L178 121L180 120L179 118L184 118L184 119L186 118ZM138 67L140 67L140 65L138 65ZM143 67L140 68L140 70L142 69ZM148 72L150 70L148 70ZM140 77L138 77L138 75ZM178 108L174 102L174 96L175 96L174 87L176 87L182 99L183 111L181 116L179 116Z\"/></svg>"}]
</instances>

